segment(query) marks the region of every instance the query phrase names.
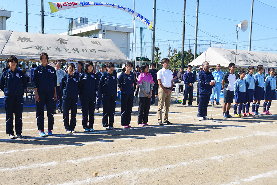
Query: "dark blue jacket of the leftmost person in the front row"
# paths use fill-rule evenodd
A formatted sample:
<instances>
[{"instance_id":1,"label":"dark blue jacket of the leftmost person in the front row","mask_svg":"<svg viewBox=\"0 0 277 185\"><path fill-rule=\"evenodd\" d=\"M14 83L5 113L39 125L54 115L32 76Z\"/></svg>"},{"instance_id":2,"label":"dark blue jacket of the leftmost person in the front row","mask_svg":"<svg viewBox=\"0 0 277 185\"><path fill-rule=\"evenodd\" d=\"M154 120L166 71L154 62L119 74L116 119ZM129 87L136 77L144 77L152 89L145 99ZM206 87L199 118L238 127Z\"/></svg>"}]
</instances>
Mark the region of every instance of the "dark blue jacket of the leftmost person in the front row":
<instances>
[{"instance_id":1,"label":"dark blue jacket of the leftmost person in the front row","mask_svg":"<svg viewBox=\"0 0 277 185\"><path fill-rule=\"evenodd\" d=\"M27 77L18 69L15 69L14 72L8 69L2 72L0 88L5 93L5 97L22 98L24 89L27 88Z\"/></svg>"}]
</instances>

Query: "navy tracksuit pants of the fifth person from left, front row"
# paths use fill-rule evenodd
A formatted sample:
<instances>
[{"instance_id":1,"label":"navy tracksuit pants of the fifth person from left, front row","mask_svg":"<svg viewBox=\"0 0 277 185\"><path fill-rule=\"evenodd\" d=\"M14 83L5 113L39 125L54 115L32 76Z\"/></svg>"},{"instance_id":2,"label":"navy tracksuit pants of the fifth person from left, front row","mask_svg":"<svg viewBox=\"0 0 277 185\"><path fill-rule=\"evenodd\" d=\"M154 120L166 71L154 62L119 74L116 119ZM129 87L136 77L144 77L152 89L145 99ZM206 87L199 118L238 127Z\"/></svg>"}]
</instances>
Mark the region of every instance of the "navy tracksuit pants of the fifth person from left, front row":
<instances>
[{"instance_id":1,"label":"navy tracksuit pants of the fifth person from left, front row","mask_svg":"<svg viewBox=\"0 0 277 185\"><path fill-rule=\"evenodd\" d=\"M116 95L103 94L102 98L103 104L103 116L102 124L103 127L114 126L114 112L116 106ZM109 123L108 123L109 119Z\"/></svg>"}]
</instances>

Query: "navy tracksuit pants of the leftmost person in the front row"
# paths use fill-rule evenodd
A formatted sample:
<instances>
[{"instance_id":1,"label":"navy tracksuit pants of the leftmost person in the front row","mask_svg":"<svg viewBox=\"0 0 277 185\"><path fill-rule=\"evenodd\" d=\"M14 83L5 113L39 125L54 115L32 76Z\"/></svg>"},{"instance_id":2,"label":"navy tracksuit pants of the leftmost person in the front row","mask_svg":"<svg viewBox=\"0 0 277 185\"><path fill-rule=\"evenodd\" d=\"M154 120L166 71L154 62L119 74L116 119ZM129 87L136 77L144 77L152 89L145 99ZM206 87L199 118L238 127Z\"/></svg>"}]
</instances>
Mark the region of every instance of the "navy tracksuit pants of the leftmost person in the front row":
<instances>
[{"instance_id":1,"label":"navy tracksuit pants of the leftmost person in the front row","mask_svg":"<svg viewBox=\"0 0 277 185\"><path fill-rule=\"evenodd\" d=\"M23 97L10 98L5 97L6 110L6 134L14 134L14 117L15 117L15 133L22 133L22 111L23 111Z\"/></svg>"}]
</instances>

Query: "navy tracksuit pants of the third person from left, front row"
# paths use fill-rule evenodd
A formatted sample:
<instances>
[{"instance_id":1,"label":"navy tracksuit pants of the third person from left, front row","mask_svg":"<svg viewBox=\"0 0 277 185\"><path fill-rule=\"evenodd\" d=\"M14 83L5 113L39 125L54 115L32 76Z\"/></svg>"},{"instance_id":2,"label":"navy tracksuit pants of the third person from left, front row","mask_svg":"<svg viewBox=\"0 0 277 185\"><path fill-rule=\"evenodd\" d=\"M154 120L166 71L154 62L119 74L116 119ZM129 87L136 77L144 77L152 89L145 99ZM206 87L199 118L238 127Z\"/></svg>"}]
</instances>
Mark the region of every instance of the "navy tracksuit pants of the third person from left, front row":
<instances>
[{"instance_id":1,"label":"navy tracksuit pants of the third person from left, front row","mask_svg":"<svg viewBox=\"0 0 277 185\"><path fill-rule=\"evenodd\" d=\"M66 129L74 130L76 126L76 115L77 115L77 103L78 99L63 99L63 124ZM69 124L69 110L70 110L70 124Z\"/></svg>"}]
</instances>

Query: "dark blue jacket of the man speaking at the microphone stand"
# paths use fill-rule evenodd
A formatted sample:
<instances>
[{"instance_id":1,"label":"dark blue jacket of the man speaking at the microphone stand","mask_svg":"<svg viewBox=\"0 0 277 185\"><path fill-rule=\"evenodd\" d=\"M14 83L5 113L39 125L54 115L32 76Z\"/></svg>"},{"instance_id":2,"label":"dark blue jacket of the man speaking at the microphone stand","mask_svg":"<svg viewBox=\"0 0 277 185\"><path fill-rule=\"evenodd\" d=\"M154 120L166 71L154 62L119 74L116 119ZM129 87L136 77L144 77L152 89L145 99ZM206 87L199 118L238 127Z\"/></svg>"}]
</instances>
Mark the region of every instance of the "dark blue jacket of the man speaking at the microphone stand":
<instances>
[{"instance_id":1,"label":"dark blue jacket of the man speaking at the microphone stand","mask_svg":"<svg viewBox=\"0 0 277 185\"><path fill-rule=\"evenodd\" d=\"M210 85L211 80L214 80L211 72L205 72L203 69L198 73L199 94L212 93L213 86Z\"/></svg>"}]
</instances>

